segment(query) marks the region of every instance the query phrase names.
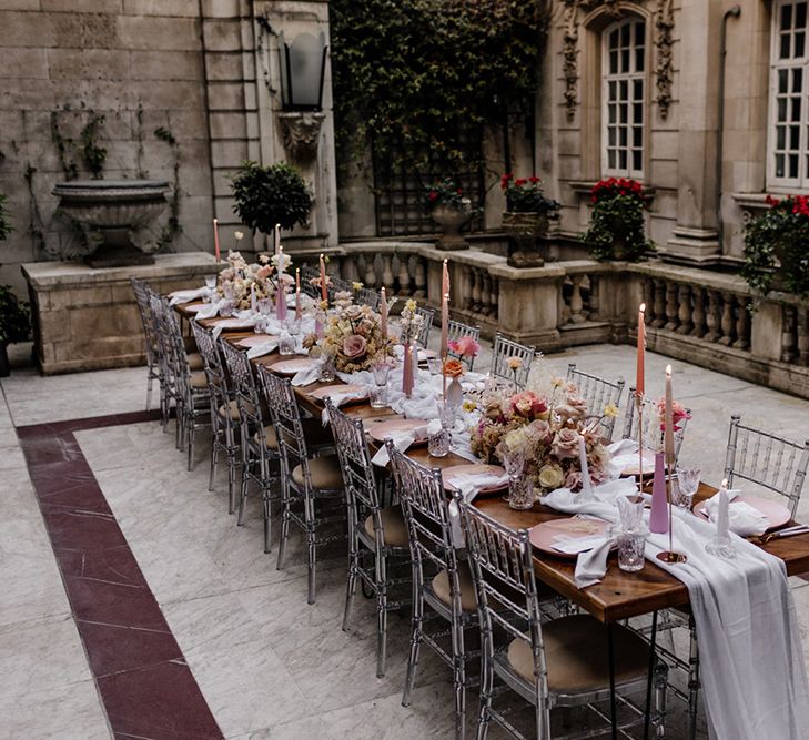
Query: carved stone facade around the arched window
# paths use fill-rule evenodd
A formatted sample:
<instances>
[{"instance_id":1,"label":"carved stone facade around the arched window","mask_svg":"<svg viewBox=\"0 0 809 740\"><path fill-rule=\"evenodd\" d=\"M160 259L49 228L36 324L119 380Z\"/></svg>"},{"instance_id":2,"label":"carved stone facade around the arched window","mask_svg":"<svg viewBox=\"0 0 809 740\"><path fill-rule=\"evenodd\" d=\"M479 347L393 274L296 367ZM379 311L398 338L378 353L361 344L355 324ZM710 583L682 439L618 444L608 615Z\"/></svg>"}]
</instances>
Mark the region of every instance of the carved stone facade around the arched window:
<instances>
[{"instance_id":1,"label":"carved stone facade around the arched window","mask_svg":"<svg viewBox=\"0 0 809 740\"><path fill-rule=\"evenodd\" d=\"M767 192L772 34L772 2L739 4L737 17L722 0L555 0L535 159L563 203L563 255L580 253L574 237L589 221L589 186L609 174L604 31L638 18L646 54L639 179L654 192L650 236L666 260L738 263L745 211L760 207Z\"/></svg>"}]
</instances>

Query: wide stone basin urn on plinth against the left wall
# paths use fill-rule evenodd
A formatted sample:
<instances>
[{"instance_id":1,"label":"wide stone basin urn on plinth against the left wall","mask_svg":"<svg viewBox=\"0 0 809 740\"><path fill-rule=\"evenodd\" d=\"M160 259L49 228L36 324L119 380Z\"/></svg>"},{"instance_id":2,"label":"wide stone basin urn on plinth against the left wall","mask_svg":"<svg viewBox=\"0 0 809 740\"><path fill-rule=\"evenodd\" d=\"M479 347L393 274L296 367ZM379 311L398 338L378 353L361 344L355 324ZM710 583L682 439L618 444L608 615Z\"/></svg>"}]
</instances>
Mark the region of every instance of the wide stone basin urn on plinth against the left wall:
<instances>
[{"instance_id":1,"label":"wide stone basin urn on plinth against the left wall","mask_svg":"<svg viewBox=\"0 0 809 740\"><path fill-rule=\"evenodd\" d=\"M59 211L84 236L91 267L154 264L142 230L165 209L168 192L165 180L73 180L53 187Z\"/></svg>"}]
</instances>

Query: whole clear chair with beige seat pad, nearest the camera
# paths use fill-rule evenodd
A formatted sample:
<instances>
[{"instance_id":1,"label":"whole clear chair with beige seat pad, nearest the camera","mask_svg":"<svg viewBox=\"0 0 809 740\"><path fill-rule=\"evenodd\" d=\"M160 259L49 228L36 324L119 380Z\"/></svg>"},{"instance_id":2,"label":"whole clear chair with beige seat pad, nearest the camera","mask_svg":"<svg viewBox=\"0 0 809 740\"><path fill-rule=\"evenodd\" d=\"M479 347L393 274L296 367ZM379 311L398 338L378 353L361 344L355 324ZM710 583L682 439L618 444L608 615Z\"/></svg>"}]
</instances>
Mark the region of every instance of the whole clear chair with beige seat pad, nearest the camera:
<instances>
[{"instance_id":1,"label":"whole clear chair with beige seat pad, nearest the camera","mask_svg":"<svg viewBox=\"0 0 809 740\"><path fill-rule=\"evenodd\" d=\"M607 627L589 615L548 620L540 605L528 530L509 529L464 504L459 496L456 500L479 604L483 655L478 739L486 737L492 722L515 738L550 738L550 710L555 707L587 706L609 720L609 710L605 712L594 704L610 699L610 683L624 699L621 704L634 709L634 723L641 723L643 709L629 703L627 696L645 696L653 665L651 719L656 736L663 737L666 666L650 655L648 642L626 627ZM613 680L610 640L615 656ZM495 687L495 681L502 686ZM508 711L499 706L503 687L533 706L530 734L516 726L518 716L513 706ZM621 729L630 723L621 721ZM588 726L575 737L594 737L595 729Z\"/></svg>"}]
</instances>

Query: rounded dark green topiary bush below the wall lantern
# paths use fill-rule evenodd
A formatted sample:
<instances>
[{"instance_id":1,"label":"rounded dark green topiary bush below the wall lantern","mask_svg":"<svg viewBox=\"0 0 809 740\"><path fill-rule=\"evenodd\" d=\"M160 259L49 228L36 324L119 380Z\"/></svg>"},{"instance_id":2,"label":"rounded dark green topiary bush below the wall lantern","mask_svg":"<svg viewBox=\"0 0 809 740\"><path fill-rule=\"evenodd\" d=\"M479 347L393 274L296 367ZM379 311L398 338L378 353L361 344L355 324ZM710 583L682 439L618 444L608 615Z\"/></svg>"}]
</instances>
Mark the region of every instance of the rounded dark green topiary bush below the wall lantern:
<instances>
[{"instance_id":1,"label":"rounded dark green topiary bush below the wall lantern","mask_svg":"<svg viewBox=\"0 0 809 740\"><path fill-rule=\"evenodd\" d=\"M243 162L231 184L236 203L233 211L242 223L264 234L275 224L292 229L304 226L312 210L312 193L297 170L286 162L263 168Z\"/></svg>"}]
</instances>

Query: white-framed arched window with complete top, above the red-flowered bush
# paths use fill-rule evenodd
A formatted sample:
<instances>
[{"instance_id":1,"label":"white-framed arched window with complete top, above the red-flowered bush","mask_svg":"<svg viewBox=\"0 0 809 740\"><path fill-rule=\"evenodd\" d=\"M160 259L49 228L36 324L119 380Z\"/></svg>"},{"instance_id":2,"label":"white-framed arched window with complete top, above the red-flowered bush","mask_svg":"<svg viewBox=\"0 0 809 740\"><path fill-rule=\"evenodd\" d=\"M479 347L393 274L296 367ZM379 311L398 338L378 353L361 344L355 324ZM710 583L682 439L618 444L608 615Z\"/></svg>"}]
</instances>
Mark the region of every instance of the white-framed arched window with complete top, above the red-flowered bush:
<instances>
[{"instance_id":1,"label":"white-framed arched window with complete top, above the red-flowered bush","mask_svg":"<svg viewBox=\"0 0 809 740\"><path fill-rule=\"evenodd\" d=\"M646 98L646 23L627 18L601 36L604 174L641 178Z\"/></svg>"}]
</instances>

